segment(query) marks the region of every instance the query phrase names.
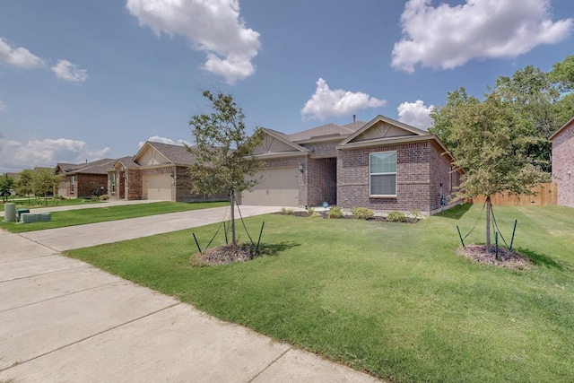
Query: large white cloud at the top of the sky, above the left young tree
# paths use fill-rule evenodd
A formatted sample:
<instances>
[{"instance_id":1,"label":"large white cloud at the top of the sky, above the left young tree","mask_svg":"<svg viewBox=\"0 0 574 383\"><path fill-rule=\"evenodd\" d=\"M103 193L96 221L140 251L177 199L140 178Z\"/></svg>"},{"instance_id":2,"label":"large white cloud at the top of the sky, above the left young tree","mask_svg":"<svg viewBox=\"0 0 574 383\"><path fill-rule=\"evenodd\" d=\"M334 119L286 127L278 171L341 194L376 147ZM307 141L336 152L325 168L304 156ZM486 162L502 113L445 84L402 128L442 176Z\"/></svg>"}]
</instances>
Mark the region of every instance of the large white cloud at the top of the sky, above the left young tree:
<instances>
[{"instance_id":1,"label":"large white cloud at the top of the sky, above the left young tree","mask_svg":"<svg viewBox=\"0 0 574 383\"><path fill-rule=\"evenodd\" d=\"M204 51L204 69L233 84L255 73L259 33L239 15L239 0L127 0L127 9L158 36L186 37Z\"/></svg>"}]
</instances>

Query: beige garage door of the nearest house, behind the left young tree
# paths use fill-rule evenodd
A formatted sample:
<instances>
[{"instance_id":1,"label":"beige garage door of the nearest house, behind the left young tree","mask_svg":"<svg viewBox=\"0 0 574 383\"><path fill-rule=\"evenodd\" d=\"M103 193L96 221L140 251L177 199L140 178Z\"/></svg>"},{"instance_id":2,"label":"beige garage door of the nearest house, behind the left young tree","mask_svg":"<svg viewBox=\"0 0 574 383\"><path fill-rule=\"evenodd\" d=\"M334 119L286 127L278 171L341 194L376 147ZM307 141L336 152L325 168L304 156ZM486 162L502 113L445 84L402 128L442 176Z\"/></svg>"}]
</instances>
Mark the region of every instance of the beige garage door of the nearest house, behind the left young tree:
<instances>
[{"instance_id":1,"label":"beige garage door of the nearest house, behind the left young tree","mask_svg":"<svg viewBox=\"0 0 574 383\"><path fill-rule=\"evenodd\" d=\"M242 193L241 205L299 206L299 170L297 168L261 170L258 176L263 176L263 178L253 188L253 191Z\"/></svg>"}]
</instances>

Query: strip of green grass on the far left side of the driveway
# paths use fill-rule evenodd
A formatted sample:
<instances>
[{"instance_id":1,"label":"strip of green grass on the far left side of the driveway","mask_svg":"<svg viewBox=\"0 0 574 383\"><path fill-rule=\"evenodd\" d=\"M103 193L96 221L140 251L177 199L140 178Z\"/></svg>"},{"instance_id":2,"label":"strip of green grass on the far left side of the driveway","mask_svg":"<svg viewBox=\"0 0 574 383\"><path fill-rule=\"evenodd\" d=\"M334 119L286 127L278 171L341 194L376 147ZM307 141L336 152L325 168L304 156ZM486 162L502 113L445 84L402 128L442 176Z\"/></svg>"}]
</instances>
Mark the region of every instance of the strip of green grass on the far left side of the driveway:
<instances>
[{"instance_id":1,"label":"strip of green grass on the far left side of the driveway","mask_svg":"<svg viewBox=\"0 0 574 383\"><path fill-rule=\"evenodd\" d=\"M101 205L99 208L52 212L50 222L0 222L0 228L13 232L39 231L86 223L125 220L126 218L145 217L163 213L187 212L229 205L228 202L153 202L138 205Z\"/></svg>"}]
</instances>

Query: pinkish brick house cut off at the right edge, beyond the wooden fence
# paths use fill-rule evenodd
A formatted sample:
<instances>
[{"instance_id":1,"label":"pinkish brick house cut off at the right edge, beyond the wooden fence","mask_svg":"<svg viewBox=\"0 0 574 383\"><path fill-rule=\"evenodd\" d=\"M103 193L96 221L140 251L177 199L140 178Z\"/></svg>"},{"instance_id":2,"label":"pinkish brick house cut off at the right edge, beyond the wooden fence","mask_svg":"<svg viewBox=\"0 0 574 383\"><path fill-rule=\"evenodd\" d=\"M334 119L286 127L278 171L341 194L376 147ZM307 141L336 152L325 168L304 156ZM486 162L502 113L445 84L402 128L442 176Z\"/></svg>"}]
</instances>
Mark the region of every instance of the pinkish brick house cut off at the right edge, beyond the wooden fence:
<instances>
[{"instance_id":1,"label":"pinkish brick house cut off at the right edge, beyond the wooden fence","mask_svg":"<svg viewBox=\"0 0 574 383\"><path fill-rule=\"evenodd\" d=\"M558 187L558 205L574 207L574 118L550 136L552 176Z\"/></svg>"}]
</instances>

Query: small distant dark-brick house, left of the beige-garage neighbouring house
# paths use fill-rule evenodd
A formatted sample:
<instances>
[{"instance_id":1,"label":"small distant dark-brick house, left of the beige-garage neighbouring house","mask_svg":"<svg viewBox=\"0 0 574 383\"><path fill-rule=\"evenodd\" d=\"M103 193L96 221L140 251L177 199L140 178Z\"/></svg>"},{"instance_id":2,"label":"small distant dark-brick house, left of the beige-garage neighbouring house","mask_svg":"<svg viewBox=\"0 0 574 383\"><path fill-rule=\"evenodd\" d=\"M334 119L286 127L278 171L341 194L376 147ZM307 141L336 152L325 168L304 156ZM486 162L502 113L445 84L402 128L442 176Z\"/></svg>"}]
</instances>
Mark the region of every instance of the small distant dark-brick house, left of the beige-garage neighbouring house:
<instances>
[{"instance_id":1,"label":"small distant dark-brick house, left of the beige-garage neighbouring house","mask_svg":"<svg viewBox=\"0 0 574 383\"><path fill-rule=\"evenodd\" d=\"M56 173L62 175L57 195L66 198L108 194L108 169L115 162L103 159L81 164L58 163Z\"/></svg>"}]
</instances>

